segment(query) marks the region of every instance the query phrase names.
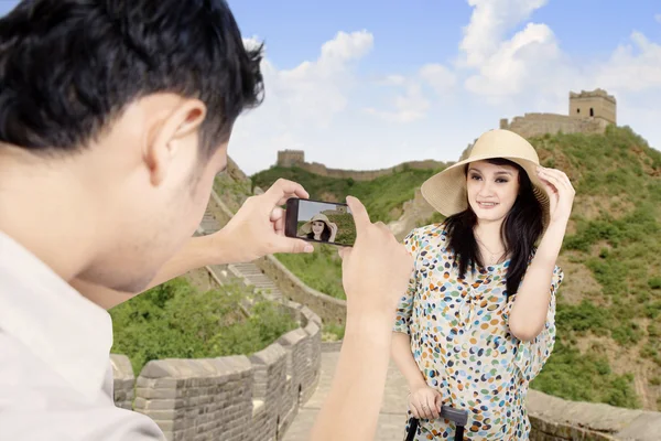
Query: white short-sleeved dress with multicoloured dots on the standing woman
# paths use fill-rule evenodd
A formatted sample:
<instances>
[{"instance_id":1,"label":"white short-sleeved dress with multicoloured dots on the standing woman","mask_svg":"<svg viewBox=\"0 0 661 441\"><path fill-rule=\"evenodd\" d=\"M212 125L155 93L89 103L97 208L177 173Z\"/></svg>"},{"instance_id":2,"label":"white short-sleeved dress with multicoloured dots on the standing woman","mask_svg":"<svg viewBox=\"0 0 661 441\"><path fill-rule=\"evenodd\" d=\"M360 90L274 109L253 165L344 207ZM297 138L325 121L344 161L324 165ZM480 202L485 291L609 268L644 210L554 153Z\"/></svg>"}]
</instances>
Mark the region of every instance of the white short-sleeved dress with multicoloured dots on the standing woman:
<instances>
[{"instance_id":1,"label":"white short-sleeved dress with multicoloured dots on the standing woman","mask_svg":"<svg viewBox=\"0 0 661 441\"><path fill-rule=\"evenodd\" d=\"M443 404L469 411L468 440L527 440L529 383L555 342L555 292L563 271L555 267L543 331L531 342L516 338L506 298L509 260L459 278L443 224L416 228L404 244L415 257L409 289L399 302L394 331L409 334L411 351L427 385ZM411 411L407 416L408 421ZM454 423L421 419L415 440L454 439ZM403 439L403 437L402 437Z\"/></svg>"}]
</instances>

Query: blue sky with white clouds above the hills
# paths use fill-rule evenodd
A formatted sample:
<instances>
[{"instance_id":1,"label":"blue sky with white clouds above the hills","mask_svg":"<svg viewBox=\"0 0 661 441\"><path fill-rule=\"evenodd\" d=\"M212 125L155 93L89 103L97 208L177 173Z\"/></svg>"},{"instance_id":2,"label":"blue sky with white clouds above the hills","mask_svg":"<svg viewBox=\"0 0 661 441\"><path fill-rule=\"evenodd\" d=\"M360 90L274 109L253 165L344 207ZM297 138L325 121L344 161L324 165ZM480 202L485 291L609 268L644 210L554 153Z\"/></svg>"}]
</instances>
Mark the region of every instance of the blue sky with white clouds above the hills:
<instances>
[{"instance_id":1,"label":"blue sky with white clouds above the hills","mask_svg":"<svg viewBox=\"0 0 661 441\"><path fill-rule=\"evenodd\" d=\"M658 1L229 4L247 44L267 44L267 99L229 148L248 173L285 148L356 170L454 161L500 118L566 114L570 90L596 87L615 95L619 125L661 147Z\"/></svg>"}]
</instances>

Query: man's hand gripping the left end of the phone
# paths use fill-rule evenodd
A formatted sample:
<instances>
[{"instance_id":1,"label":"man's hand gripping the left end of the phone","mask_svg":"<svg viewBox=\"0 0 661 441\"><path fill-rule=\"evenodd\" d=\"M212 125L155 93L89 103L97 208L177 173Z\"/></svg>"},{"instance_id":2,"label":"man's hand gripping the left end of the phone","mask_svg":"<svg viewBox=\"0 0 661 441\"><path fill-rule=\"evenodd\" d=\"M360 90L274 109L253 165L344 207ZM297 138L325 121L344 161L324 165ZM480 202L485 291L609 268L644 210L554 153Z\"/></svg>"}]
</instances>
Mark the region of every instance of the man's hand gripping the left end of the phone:
<instances>
[{"instance_id":1,"label":"man's hand gripping the left end of the phone","mask_svg":"<svg viewBox=\"0 0 661 441\"><path fill-rule=\"evenodd\" d=\"M250 196L215 241L220 252L230 252L232 262L248 262L274 252L313 252L314 247L302 239L284 236L284 205L291 197L308 198L300 184L280 179L259 196Z\"/></svg>"}]
</instances>

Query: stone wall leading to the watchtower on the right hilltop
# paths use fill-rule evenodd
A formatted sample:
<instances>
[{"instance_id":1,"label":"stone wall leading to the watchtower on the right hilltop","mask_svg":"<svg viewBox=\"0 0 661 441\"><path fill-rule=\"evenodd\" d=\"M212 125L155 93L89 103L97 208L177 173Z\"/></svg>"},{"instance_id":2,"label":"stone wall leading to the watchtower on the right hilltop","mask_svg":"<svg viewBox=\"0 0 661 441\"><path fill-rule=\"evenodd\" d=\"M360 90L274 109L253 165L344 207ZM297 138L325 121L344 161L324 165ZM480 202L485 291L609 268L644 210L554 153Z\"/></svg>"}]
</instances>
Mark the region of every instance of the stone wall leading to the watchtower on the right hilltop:
<instances>
[{"instance_id":1,"label":"stone wall leading to the watchtower on the right hilltop","mask_svg":"<svg viewBox=\"0 0 661 441\"><path fill-rule=\"evenodd\" d=\"M514 117L511 122L500 120L500 128L519 133L523 138L545 133L604 133L608 122L600 118L573 118L556 114L525 114Z\"/></svg>"}]
</instances>

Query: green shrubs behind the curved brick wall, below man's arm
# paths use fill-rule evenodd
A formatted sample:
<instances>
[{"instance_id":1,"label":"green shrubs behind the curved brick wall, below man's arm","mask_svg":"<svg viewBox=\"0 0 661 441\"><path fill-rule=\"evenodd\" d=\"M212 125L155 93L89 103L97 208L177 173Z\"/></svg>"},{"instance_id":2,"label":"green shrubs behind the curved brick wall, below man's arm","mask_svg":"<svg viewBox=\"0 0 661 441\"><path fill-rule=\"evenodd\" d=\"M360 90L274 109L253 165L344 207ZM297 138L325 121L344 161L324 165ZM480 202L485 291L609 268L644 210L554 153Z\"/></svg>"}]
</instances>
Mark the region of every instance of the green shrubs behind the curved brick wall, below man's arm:
<instances>
[{"instance_id":1,"label":"green shrubs behind the curved brick wall, below man's arm","mask_svg":"<svg viewBox=\"0 0 661 441\"><path fill-rule=\"evenodd\" d=\"M197 292L183 278L165 282L110 310L111 351L127 355L139 375L152 359L249 355L297 326L260 299L246 318L239 306L247 294L238 286Z\"/></svg>"}]
</instances>

